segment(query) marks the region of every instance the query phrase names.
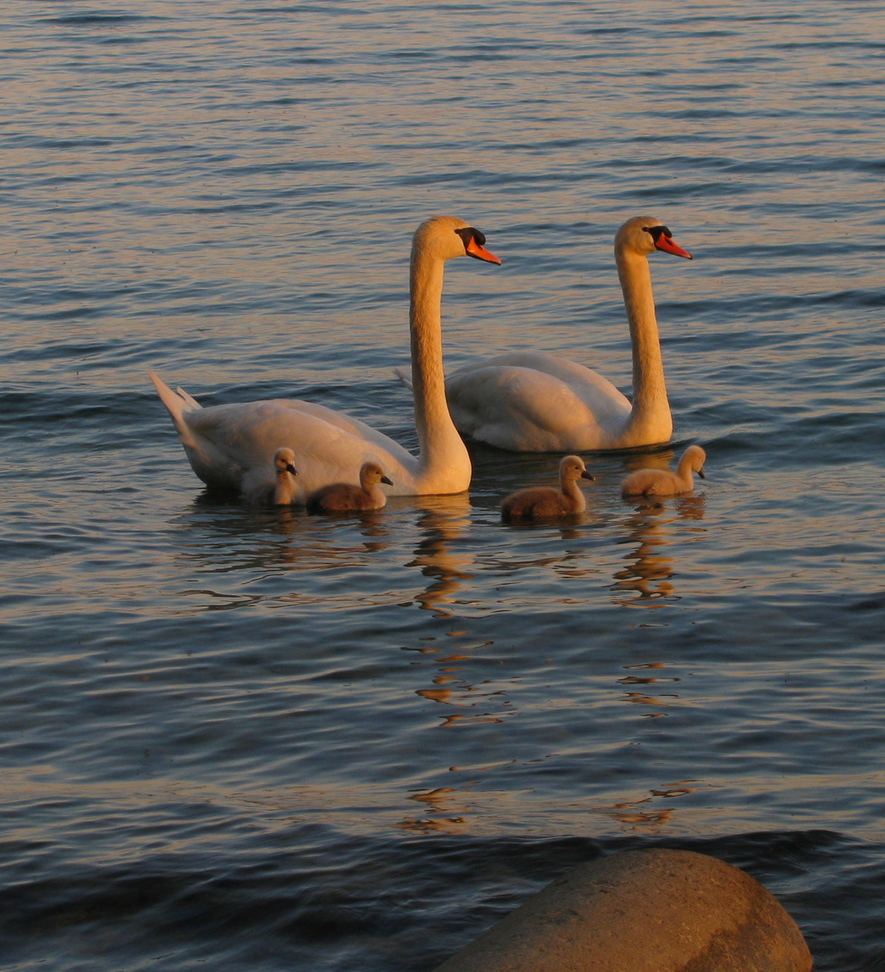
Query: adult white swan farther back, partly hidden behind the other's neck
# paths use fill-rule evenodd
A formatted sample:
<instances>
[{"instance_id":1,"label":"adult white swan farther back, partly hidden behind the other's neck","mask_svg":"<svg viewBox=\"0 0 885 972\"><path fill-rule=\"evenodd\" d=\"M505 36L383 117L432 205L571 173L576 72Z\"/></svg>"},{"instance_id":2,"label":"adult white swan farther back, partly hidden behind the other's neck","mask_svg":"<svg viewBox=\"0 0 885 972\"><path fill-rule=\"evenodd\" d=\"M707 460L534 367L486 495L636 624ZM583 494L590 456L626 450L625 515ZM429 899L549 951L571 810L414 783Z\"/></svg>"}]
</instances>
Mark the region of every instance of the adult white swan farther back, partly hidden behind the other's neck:
<instances>
[{"instance_id":1,"label":"adult white swan farther back, partly hidden behind the other's neck","mask_svg":"<svg viewBox=\"0 0 885 972\"><path fill-rule=\"evenodd\" d=\"M517 351L448 376L445 392L458 431L513 452L583 452L666 442L673 419L647 259L655 250L691 260L670 230L651 216L627 220L615 236L633 345L632 406L610 381L583 364Z\"/></svg>"}]
</instances>

